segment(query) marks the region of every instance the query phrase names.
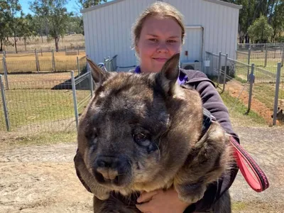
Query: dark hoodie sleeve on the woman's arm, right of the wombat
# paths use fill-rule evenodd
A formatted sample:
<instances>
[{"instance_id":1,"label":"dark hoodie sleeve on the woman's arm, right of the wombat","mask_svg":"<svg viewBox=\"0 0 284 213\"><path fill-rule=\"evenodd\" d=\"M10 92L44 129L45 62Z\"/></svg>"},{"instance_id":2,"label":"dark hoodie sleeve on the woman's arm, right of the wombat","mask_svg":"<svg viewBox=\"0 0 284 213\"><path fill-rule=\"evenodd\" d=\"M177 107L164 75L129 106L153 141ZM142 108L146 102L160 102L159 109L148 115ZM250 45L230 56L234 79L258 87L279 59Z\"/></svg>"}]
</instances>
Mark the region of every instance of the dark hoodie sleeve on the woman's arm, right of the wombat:
<instances>
[{"instance_id":1,"label":"dark hoodie sleeve on the woman's arm, right of the wombat","mask_svg":"<svg viewBox=\"0 0 284 213\"><path fill-rule=\"evenodd\" d=\"M207 75L203 72L195 70L181 70L187 75L186 84L194 87L202 98L203 107L210 111L210 113L219 121L223 129L231 134L236 141L239 141L239 136L234 132L231 121L229 119L229 111L222 101L219 92L214 87L214 83L208 79ZM238 168L233 167L231 174L223 175L217 182L207 187L207 191L204 193L202 200L195 204L190 205L185 212L204 212L210 207L216 200L223 195L223 193L231 187L231 184L236 178Z\"/></svg>"}]
</instances>

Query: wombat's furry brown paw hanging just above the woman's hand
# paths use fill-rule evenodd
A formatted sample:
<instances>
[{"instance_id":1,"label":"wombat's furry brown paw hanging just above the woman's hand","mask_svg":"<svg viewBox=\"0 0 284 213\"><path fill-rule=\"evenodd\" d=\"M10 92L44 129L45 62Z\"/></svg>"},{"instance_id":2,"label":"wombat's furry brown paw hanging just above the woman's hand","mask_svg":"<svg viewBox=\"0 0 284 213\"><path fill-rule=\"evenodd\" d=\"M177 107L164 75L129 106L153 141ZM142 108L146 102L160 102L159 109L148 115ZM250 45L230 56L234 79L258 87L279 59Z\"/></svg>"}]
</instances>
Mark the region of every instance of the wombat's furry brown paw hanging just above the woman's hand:
<instances>
[{"instance_id":1,"label":"wombat's furry brown paw hanging just above the woman's hand","mask_svg":"<svg viewBox=\"0 0 284 213\"><path fill-rule=\"evenodd\" d=\"M192 204L202 199L206 187L200 184L179 185L176 187L176 190L178 192L178 198L182 202Z\"/></svg>"}]
</instances>

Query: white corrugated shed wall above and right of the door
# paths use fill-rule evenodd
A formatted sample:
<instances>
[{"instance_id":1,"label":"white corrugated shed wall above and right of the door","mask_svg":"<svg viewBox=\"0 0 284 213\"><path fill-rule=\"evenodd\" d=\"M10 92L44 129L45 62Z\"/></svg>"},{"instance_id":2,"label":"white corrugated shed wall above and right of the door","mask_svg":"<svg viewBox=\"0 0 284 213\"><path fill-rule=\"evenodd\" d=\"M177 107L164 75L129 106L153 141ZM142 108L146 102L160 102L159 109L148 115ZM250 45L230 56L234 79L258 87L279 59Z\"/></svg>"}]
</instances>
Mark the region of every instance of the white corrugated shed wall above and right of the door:
<instances>
[{"instance_id":1,"label":"white corrugated shed wall above and right of the door","mask_svg":"<svg viewBox=\"0 0 284 213\"><path fill-rule=\"evenodd\" d=\"M165 0L185 16L186 25L204 27L204 50L235 57L239 10L209 1Z\"/></svg>"}]
</instances>

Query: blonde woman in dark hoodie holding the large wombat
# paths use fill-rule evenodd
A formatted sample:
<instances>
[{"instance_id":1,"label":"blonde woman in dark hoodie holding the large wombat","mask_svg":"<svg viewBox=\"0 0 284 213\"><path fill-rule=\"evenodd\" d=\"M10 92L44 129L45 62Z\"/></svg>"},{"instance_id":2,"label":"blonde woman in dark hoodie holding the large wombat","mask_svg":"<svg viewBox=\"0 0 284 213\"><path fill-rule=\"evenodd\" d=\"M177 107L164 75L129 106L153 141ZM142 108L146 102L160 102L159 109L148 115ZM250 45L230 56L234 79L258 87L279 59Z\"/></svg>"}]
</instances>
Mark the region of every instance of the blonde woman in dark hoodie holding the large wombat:
<instances>
[{"instance_id":1,"label":"blonde woman in dark hoodie holding the large wombat","mask_svg":"<svg viewBox=\"0 0 284 213\"><path fill-rule=\"evenodd\" d=\"M164 63L175 53L180 52L185 37L185 26L181 13L170 4L155 2L144 11L133 26L133 46L140 65L132 72L159 72ZM187 82L195 87L202 97L204 108L219 121L227 133L239 141L232 130L229 114L219 93L203 72L195 70L180 70L180 84ZM223 177L218 182L209 185L202 200L196 204L182 203L175 190L158 190L141 194L136 207L141 212L207 212L217 210L219 197L226 196L227 190L236 177L237 168L231 170L231 175ZM223 197L224 198L224 197ZM222 202L224 199L221 199Z\"/></svg>"}]
</instances>

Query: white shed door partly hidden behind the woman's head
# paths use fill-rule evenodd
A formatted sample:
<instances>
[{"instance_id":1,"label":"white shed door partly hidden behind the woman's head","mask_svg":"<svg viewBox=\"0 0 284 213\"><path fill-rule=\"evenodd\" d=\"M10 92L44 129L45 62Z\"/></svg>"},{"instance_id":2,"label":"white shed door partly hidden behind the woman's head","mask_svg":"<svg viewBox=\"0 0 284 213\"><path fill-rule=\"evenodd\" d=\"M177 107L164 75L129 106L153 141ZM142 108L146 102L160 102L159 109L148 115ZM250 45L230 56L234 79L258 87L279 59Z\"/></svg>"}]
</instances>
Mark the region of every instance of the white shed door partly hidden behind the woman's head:
<instances>
[{"instance_id":1,"label":"white shed door partly hidden behind the woman's head","mask_svg":"<svg viewBox=\"0 0 284 213\"><path fill-rule=\"evenodd\" d=\"M185 44L182 46L180 61L202 60L202 28L199 26L185 28ZM187 55L185 55L187 51Z\"/></svg>"}]
</instances>

